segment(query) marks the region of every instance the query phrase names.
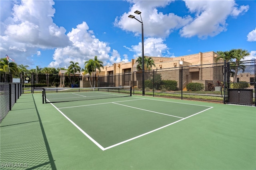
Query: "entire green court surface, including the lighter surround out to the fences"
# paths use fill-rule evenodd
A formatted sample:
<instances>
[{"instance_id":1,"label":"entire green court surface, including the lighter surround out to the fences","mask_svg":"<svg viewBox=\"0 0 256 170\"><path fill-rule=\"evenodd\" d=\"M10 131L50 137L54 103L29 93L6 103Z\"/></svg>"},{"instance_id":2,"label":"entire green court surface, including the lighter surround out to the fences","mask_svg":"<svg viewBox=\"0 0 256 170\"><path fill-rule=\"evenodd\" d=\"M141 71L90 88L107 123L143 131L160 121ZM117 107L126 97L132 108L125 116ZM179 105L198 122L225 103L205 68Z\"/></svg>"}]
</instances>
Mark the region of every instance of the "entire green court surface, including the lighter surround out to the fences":
<instances>
[{"instance_id":1,"label":"entire green court surface, including the lighter surround out to the fences","mask_svg":"<svg viewBox=\"0 0 256 170\"><path fill-rule=\"evenodd\" d=\"M256 107L149 96L42 104L0 124L1 169L255 169Z\"/></svg>"}]
</instances>

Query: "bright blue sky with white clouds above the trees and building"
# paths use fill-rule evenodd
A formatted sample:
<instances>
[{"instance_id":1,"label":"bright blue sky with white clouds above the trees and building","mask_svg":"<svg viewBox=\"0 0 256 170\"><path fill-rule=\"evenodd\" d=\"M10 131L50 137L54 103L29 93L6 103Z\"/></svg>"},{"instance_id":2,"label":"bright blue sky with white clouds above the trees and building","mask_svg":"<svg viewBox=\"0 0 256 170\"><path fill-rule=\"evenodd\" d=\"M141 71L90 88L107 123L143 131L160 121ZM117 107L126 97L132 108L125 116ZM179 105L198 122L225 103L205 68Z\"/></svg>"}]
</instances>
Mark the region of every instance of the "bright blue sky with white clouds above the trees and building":
<instances>
[{"instance_id":1,"label":"bright blue sky with white clouds above the trees and building","mask_svg":"<svg viewBox=\"0 0 256 170\"><path fill-rule=\"evenodd\" d=\"M26 0L0 1L0 55L29 69L68 67L98 59L104 65L144 54L179 57L245 49L256 59L254 0Z\"/></svg>"}]
</instances>

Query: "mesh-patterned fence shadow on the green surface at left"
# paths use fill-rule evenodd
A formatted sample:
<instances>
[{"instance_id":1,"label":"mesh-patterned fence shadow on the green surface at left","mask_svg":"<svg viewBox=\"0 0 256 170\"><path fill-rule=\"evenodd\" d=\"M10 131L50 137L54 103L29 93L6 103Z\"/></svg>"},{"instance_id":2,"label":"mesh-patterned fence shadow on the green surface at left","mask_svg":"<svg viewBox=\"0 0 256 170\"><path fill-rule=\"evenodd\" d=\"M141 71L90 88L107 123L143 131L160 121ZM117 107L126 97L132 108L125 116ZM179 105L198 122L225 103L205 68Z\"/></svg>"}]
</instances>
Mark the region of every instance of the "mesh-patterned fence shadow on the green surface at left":
<instances>
[{"instance_id":1,"label":"mesh-patterned fence shadow on the green surface at left","mask_svg":"<svg viewBox=\"0 0 256 170\"><path fill-rule=\"evenodd\" d=\"M20 97L0 131L0 169L56 169L32 94Z\"/></svg>"}]
</instances>

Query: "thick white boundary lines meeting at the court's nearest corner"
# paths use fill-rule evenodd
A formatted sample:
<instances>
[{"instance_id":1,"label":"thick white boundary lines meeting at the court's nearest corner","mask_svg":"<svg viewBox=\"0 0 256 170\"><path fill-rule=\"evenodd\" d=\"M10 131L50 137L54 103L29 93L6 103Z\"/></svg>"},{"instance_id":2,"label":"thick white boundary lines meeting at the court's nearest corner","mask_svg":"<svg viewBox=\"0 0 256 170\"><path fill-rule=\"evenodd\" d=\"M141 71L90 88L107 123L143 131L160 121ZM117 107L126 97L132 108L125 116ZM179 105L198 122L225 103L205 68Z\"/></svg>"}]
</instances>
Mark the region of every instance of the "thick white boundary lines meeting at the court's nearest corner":
<instances>
[{"instance_id":1,"label":"thick white boundary lines meeting at the court's nearest corner","mask_svg":"<svg viewBox=\"0 0 256 170\"><path fill-rule=\"evenodd\" d=\"M144 99L144 98L140 98L140 99ZM139 100L139 99L138 99L138 100ZM127 100L127 101L131 101L131 100ZM157 101L162 101L162 100L157 100ZM124 101L120 101L120 102L124 102ZM117 104L117 103L114 103L114 102L109 102L109 103ZM174 103L175 103L175 102L174 102ZM107 103L105 103L105 104L107 104ZM180 103L180 104L182 104L182 103ZM52 103L51 103L51 105L54 106ZM192 104L192 105L193 105L193 104ZM124 106L125 106L125 105L124 105ZM196 105L196 106L200 106L200 105ZM194 116L194 115L197 115L197 114L202 113L202 112L204 112L204 111L206 111L206 110L208 110L208 109L212 109L212 108L213 108L213 107L206 106L206 107L209 107L209 108L208 108L208 109L204 109L203 111L200 111L200 112L195 113L195 114L193 114L193 115L190 115L190 116L188 116L188 117L182 118L182 119L180 119L180 120L178 120L178 121L172 122L172 123L170 123L170 124L168 124L168 125L159 127L159 128L154 129L154 130L152 130L152 131L149 131L149 132L147 132L147 133L143 133L142 135L138 135L138 136L136 136L136 137L127 139L127 140L122 141L122 142L120 142L120 143L117 143L117 144L115 144L115 145L111 145L111 146L109 146L109 147L104 148L104 147L102 147L97 141L95 141L92 137L90 137L90 135L88 135L86 132L84 132L78 125L76 125L76 123L74 123L74 122L73 122L71 119L69 119L64 113L62 113L62 111L60 111L60 109L58 109L56 106L54 106L54 107L55 107L66 119L68 119L68 121L70 121L79 131L81 131L86 137L88 137L88 139L90 139L96 146L98 146L98 147L99 147L101 150L103 150L103 151L104 151L104 150L107 150L107 149L110 149L110 148L113 148L113 147L116 147L116 146L118 146L118 145L124 144L124 143L126 143L126 142L132 141L132 140L137 139L137 138L139 138L139 137L148 135L148 134L150 134L150 133L153 133L153 132L155 132L155 131L158 131L158 130L160 130L160 129L163 129L163 128L165 128L165 127L168 127L168 126L170 126L170 125L173 125L173 124L178 123L178 122L180 122L180 121L182 121L182 120L185 120L185 119L187 119L187 118L189 118L189 117L192 117L192 116ZM128 107L130 107L130 106L128 106ZM62 107L62 108L64 108L64 107Z\"/></svg>"}]
</instances>

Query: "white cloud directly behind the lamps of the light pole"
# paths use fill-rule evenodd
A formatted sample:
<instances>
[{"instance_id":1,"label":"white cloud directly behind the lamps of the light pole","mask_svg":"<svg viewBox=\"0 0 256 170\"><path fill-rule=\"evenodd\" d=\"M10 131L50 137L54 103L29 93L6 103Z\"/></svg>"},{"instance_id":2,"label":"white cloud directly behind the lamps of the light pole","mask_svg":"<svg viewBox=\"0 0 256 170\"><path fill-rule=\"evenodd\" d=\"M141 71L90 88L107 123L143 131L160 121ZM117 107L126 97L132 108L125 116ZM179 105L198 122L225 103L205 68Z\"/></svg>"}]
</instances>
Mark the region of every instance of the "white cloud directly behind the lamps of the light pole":
<instances>
[{"instance_id":1,"label":"white cloud directly behind the lamps of the light pole","mask_svg":"<svg viewBox=\"0 0 256 170\"><path fill-rule=\"evenodd\" d=\"M174 29L178 29L191 21L191 17L184 18L173 13L163 14L158 12L157 7L165 7L170 4L170 0L165 1L130 1L133 5L130 12L124 13L120 18L116 18L114 25L126 31L132 31L136 36L141 34L141 24L135 19L128 18L131 14L141 21L139 15L134 11L139 10L142 16L144 35L146 37L168 37Z\"/></svg>"}]
</instances>

